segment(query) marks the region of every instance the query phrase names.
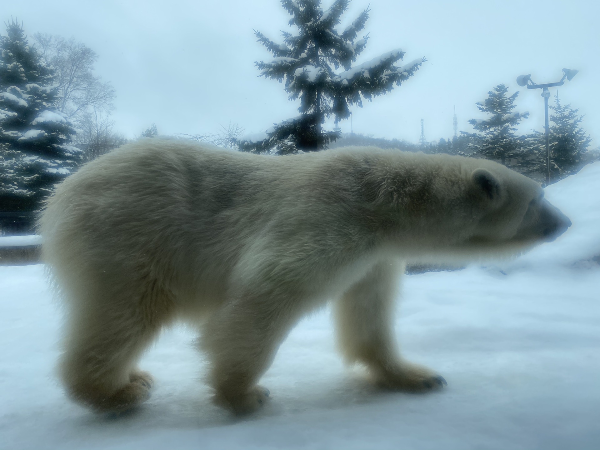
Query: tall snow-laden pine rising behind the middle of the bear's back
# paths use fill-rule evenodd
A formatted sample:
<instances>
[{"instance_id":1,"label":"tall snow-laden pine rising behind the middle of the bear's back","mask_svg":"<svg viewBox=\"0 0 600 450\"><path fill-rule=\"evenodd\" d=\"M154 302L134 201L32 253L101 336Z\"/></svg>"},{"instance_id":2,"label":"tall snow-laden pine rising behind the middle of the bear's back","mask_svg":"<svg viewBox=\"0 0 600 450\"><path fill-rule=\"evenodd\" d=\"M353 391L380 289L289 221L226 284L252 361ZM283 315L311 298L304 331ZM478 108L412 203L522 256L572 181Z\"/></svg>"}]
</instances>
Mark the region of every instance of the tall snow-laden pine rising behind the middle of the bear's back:
<instances>
[{"instance_id":1,"label":"tall snow-laden pine rising behind the middle of the bear's back","mask_svg":"<svg viewBox=\"0 0 600 450\"><path fill-rule=\"evenodd\" d=\"M340 32L335 27L349 0L334 0L326 10L320 4L320 0L281 1L292 16L289 24L298 28L298 34L283 31L281 44L255 32L274 56L271 61L255 64L262 76L285 82L290 100L300 100L300 115L275 124L259 136L239 139L243 151L289 154L297 149L325 148L338 137L335 131L323 131L325 118L348 118L350 106L362 107L363 98L371 100L391 91L394 84L400 86L425 61L419 58L402 67L394 65L404 56L397 49L352 67L367 44L368 35L358 38L358 34L367 22L368 8Z\"/></svg>"}]
</instances>

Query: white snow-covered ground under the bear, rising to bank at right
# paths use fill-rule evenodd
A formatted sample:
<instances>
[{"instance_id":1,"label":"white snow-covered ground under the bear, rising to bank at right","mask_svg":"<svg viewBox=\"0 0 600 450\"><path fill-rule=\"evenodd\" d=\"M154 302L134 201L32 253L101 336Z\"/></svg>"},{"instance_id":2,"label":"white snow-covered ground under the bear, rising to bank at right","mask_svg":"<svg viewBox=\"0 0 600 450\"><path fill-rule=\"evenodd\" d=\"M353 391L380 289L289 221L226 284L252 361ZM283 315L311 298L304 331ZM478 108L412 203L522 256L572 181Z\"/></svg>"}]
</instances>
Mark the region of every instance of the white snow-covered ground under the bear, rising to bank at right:
<instances>
[{"instance_id":1,"label":"white snow-covered ground under the bear, rising to bank at right","mask_svg":"<svg viewBox=\"0 0 600 450\"><path fill-rule=\"evenodd\" d=\"M43 266L0 267L0 448L598 449L600 163L546 191L573 222L556 242L405 278L404 354L448 380L425 395L379 391L344 368L325 310L281 346L262 380L272 401L254 416L211 403L185 329L143 359L157 383L142 408L97 416L53 375L60 314Z\"/></svg>"}]
</instances>

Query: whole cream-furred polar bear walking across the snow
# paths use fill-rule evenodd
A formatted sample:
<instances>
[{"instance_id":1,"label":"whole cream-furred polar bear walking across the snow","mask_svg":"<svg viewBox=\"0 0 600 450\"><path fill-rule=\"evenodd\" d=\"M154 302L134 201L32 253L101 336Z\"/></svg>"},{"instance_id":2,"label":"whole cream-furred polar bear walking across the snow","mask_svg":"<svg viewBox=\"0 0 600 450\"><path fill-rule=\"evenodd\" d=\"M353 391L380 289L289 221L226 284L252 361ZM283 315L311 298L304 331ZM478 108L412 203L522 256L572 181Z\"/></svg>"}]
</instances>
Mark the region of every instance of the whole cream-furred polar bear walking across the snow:
<instances>
[{"instance_id":1,"label":"whole cream-furred polar bear walking across the snow","mask_svg":"<svg viewBox=\"0 0 600 450\"><path fill-rule=\"evenodd\" d=\"M343 148L285 157L182 140L123 146L67 178L40 219L67 311L60 376L97 411L149 397L140 355L164 326L200 326L217 397L237 413L290 329L333 302L338 343L392 389L442 376L401 358L404 263L520 253L571 225L500 164Z\"/></svg>"}]
</instances>

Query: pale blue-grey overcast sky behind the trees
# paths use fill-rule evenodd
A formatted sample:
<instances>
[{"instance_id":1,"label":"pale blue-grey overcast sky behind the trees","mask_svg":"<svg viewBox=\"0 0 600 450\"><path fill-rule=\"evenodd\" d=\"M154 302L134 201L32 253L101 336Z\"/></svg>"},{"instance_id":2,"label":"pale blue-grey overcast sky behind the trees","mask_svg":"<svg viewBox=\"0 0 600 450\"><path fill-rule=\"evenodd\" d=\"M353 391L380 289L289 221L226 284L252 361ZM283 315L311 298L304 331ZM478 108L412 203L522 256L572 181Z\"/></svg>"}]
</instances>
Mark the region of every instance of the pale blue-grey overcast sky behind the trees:
<instances>
[{"instance_id":1,"label":"pale blue-grey overcast sky behind the trees","mask_svg":"<svg viewBox=\"0 0 600 450\"><path fill-rule=\"evenodd\" d=\"M405 62L428 61L400 88L355 107L355 133L416 142L423 118L428 140L451 137L454 106L458 129L470 131L467 121L482 117L475 102L499 83L520 89L517 110L530 112L523 132L542 130L541 91L515 79L554 82L566 67L580 73L560 97L586 115L592 146L600 145L600 2L353 0L340 29L369 2L370 39L357 63L398 47ZM116 129L127 137L152 122L161 134L214 133L230 121L256 133L298 114L283 85L254 67L271 54L253 29L277 41L290 30L277 0L0 0L0 13L18 17L30 36L74 37L94 49L97 74L116 89ZM340 125L350 131L350 121Z\"/></svg>"}]
</instances>

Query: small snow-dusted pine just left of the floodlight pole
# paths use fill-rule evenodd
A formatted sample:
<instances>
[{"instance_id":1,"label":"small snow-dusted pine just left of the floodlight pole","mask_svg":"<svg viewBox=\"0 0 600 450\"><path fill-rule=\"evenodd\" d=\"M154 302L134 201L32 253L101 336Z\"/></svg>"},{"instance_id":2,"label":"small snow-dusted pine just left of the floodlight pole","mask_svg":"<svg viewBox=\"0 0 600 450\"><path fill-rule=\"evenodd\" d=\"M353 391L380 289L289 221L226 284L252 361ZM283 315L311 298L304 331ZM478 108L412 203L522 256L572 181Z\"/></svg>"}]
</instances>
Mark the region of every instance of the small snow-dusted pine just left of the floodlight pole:
<instances>
[{"instance_id":1,"label":"small snow-dusted pine just left of the floodlight pole","mask_svg":"<svg viewBox=\"0 0 600 450\"><path fill-rule=\"evenodd\" d=\"M529 158L524 158L523 151L515 136L516 125L529 116L529 112L513 112L518 92L510 97L506 85L497 85L488 91L488 98L482 103L476 103L479 111L489 115L488 119L470 119L469 124L477 133L464 133L472 137L470 146L473 152L470 156L499 161L507 167L518 169L523 164L529 164Z\"/></svg>"}]
</instances>

